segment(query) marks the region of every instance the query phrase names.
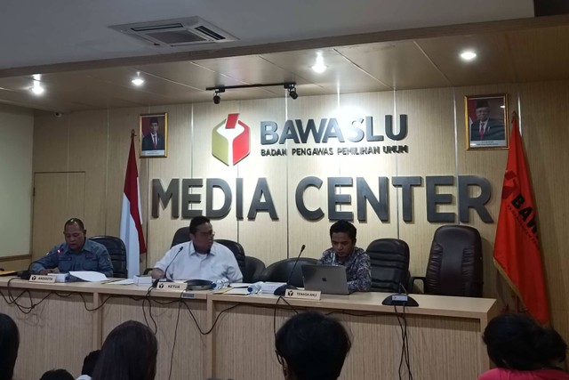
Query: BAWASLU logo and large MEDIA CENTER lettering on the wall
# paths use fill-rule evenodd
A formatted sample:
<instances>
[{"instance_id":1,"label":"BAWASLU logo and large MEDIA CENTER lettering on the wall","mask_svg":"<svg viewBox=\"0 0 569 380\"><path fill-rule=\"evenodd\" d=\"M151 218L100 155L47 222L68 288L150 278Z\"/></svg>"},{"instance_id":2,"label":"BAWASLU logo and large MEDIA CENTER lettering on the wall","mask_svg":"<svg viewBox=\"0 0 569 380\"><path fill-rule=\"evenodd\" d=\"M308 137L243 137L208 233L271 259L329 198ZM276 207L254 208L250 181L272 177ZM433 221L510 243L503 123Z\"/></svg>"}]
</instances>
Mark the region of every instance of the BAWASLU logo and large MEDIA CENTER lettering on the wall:
<instances>
[{"instance_id":1,"label":"BAWASLU logo and large MEDIA CENTER lettering on the wall","mask_svg":"<svg viewBox=\"0 0 569 380\"><path fill-rule=\"evenodd\" d=\"M275 158L282 156L334 156L334 155L377 155L381 153L408 153L405 140L408 132L407 116L399 115L396 128L393 117L385 115L384 131L377 133L373 127L373 117L356 117L349 123L339 123L336 118L320 120L301 119L286 120L282 130L275 121L260 121L260 157ZM239 120L239 114L229 114L220 124L212 128L212 156L226 166L234 166L247 158L251 152L251 128ZM378 145L386 140L395 144ZM305 147L308 142L322 147ZM334 147L330 143L335 141ZM363 145L365 141L367 145ZM349 144L359 143L357 146ZM288 146L293 148L289 149ZM327 146L328 145L328 146ZM377 158L374 158L377 159ZM222 178L174 178L166 189L159 179L152 180L152 217L159 217L160 205L164 208L171 205L172 218L190 219L197 215L206 215L213 219L223 219L235 207L237 220L244 219L244 181L252 179L236 178L235 193L229 183ZM389 186L390 183L390 186ZM389 196L393 188L401 189L401 210L405 222L413 222L413 189L425 186L427 220L429 222L456 222L457 213L440 212L438 206L452 205L453 195L441 193L439 187L456 186L458 197L458 217L461 222L470 222L469 210L475 210L483 222L493 222L485 204L491 198L491 186L484 177L476 175L431 175L421 176L378 176L377 182L366 182L363 177L327 177L307 176L301 179L294 191L296 208L303 218L317 221L324 217L329 220L357 219L368 220L368 205L375 217L381 222L389 222ZM472 187L477 190L470 191ZM341 194L341 189L355 188L356 199L349 194ZM326 191L326 205L309 208L304 201L307 190ZM204 190L204 197L200 190ZM340 191L339 191L340 190ZM223 204L213 207L213 192L221 191ZM470 194L477 193L476 197ZM272 220L279 219L279 211L273 202L268 178L256 179L255 190L247 197L249 206L246 217L254 220L259 213L268 213ZM339 211L338 206L356 206L352 211Z\"/></svg>"}]
</instances>

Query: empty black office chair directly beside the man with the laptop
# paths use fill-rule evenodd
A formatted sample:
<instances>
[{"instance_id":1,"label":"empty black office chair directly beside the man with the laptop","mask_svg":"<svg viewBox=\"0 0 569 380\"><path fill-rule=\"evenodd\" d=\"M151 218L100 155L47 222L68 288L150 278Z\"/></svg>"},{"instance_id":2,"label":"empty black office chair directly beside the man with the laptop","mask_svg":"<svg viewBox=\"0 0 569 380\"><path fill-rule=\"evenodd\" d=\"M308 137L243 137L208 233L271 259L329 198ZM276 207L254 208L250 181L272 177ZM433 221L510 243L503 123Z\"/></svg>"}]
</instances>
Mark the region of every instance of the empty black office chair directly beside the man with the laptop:
<instances>
[{"instance_id":1,"label":"empty black office chair directly beside the man with the laptop","mask_svg":"<svg viewBox=\"0 0 569 380\"><path fill-rule=\"evenodd\" d=\"M372 291L404 293L409 281L407 243L400 239L376 239L366 252L372 264Z\"/></svg>"}]
</instances>

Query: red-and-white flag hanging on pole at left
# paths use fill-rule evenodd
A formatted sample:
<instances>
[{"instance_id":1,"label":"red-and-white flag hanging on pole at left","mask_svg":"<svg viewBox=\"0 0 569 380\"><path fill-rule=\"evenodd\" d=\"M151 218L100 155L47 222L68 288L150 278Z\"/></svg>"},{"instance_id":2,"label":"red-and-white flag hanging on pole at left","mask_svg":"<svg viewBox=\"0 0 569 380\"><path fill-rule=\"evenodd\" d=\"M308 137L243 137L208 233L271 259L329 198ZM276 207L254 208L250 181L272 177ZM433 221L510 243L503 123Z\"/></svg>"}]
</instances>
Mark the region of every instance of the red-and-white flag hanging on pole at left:
<instances>
[{"instance_id":1,"label":"red-and-white flag hanging on pole at left","mask_svg":"<svg viewBox=\"0 0 569 380\"><path fill-rule=\"evenodd\" d=\"M140 255L146 253L141 215L139 172L136 168L134 131L132 131L131 150L128 154L126 177L124 178L120 231L120 237L126 246L126 265L129 279L132 279L135 274L140 274Z\"/></svg>"}]
</instances>

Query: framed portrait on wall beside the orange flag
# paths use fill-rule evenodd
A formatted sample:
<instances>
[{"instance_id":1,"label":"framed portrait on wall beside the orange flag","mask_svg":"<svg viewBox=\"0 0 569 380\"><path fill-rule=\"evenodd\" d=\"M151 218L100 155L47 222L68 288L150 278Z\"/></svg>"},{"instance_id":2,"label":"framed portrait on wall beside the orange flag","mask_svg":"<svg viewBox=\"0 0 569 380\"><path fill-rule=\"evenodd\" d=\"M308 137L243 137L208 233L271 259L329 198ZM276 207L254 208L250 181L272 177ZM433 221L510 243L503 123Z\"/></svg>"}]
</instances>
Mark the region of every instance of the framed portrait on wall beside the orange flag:
<instances>
[{"instance_id":1,"label":"framed portrait on wall beside the orange flag","mask_svg":"<svg viewBox=\"0 0 569 380\"><path fill-rule=\"evenodd\" d=\"M508 94L464 97L468 150L508 148Z\"/></svg>"}]
</instances>

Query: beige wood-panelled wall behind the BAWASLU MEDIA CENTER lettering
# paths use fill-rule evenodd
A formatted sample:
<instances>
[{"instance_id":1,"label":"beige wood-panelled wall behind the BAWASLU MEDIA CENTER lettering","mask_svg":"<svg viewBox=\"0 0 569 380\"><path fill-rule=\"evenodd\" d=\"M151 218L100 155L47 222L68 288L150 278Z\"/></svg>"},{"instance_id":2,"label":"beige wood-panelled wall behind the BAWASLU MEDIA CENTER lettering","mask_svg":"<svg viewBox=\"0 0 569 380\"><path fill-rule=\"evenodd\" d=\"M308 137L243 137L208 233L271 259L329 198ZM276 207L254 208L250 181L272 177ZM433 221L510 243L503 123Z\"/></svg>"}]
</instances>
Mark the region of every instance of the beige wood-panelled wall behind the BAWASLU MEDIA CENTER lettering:
<instances>
[{"instance_id":1,"label":"beige wood-panelled wall behind the BAWASLU MEDIA CENTER lettering","mask_svg":"<svg viewBox=\"0 0 569 380\"><path fill-rule=\"evenodd\" d=\"M564 239L564 217L569 200L564 196L569 186L565 167L569 158L563 142L569 141L566 120L569 112L568 82L531 85L485 85L468 88L440 88L400 91L397 93L352 93L339 96L302 97L296 101L284 99L257 101L221 101L212 103L167 105L136 109L105 109L77 112L64 117L38 114L35 124L34 172L81 171L85 173L84 222L90 235L118 235L124 170L128 155L130 131L137 128L138 116L148 112L168 113L168 158L149 158L139 161L140 192L144 230L147 233L148 263L150 266L164 255L170 246L173 232L187 225L186 220L172 220L170 207L161 210L157 219L149 218L151 180L159 178L167 186L172 178L222 178L233 193L230 214L213 221L216 237L236 239L247 255L273 263L287 255L296 255L302 244L306 255L317 257L329 246L330 222L325 216L317 222L305 221L296 209L294 191L302 178L314 175L324 182L327 177L364 177L377 194L377 177L419 175L421 187L413 190L413 222L403 222L400 190L389 182L389 222L381 222L368 206L367 222L357 222L358 245L366 247L373 239L396 237L404 239L411 248L411 271L422 275L429 257L433 232L441 223L429 223L426 217L427 175L483 176L491 182L493 196L486 205L493 223L485 223L470 212L470 225L476 227L484 240L485 295L496 295L496 271L492 250L498 219L501 180L506 165L507 150L465 149L464 95L509 93L509 109L519 113L523 137L531 170L534 197L538 207L541 244L546 264L549 295L552 300L554 326L569 336L566 294L569 280L562 276L569 261L566 252L569 242ZM273 120L281 129L285 119L342 115L373 116L377 133L383 133L385 114L408 115L408 134L397 144L408 145L409 153L377 156L296 157L290 155L295 147L287 143L287 157L260 157L260 120ZM211 152L212 128L228 113L240 113L240 119L251 127L251 154L237 166L225 166ZM398 117L394 117L398 120ZM54 133L55 131L55 133ZM389 144L388 139L378 145ZM331 141L330 146L338 146ZM346 146L373 143L346 143ZM309 142L303 147L322 146ZM138 147L137 147L138 149ZM252 192L257 178L267 178L278 213L271 221L260 213L254 221L247 220ZM244 179L244 220L236 222L236 178ZM439 191L453 194L453 205L440 206L440 211L458 214L457 188L441 187ZM197 190L205 207L205 192ZM349 194L352 204L341 206L342 211L356 212L356 187L341 190ZM306 192L308 206L321 206L326 213L326 183L320 190ZM214 197L220 206L220 197ZM71 215L70 215L71 216ZM62 223L63 221L61 221ZM458 215L456 222L458 222Z\"/></svg>"}]
</instances>

